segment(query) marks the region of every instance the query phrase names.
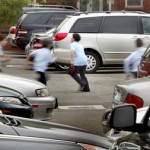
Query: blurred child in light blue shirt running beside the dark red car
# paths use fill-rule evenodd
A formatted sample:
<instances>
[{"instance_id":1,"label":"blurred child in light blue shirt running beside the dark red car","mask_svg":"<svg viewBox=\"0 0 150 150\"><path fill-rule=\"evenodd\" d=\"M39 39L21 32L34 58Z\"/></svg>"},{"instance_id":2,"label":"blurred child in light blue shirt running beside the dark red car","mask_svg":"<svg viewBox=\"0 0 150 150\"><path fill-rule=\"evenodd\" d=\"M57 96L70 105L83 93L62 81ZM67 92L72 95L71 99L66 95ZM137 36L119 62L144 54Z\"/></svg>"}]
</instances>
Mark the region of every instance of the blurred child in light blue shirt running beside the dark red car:
<instances>
[{"instance_id":1,"label":"blurred child in light blue shirt running beside the dark red car","mask_svg":"<svg viewBox=\"0 0 150 150\"><path fill-rule=\"evenodd\" d=\"M133 74L134 78L137 78L140 60L145 50L146 48L143 47L143 41L138 38L136 40L136 50L124 60L124 72L126 73L126 79L129 78L130 73Z\"/></svg>"}]
</instances>

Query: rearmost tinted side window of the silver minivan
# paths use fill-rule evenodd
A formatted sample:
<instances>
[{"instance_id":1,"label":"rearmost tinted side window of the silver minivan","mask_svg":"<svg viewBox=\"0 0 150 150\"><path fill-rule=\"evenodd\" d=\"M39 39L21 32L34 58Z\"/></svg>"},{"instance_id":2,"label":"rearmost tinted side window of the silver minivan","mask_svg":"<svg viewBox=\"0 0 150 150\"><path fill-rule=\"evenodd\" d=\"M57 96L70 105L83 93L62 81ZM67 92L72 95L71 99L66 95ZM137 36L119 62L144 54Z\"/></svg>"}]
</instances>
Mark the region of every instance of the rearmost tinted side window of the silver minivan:
<instances>
[{"instance_id":1,"label":"rearmost tinted side window of the silver minivan","mask_svg":"<svg viewBox=\"0 0 150 150\"><path fill-rule=\"evenodd\" d=\"M80 18L72 26L70 33L97 33L101 21L102 17Z\"/></svg>"}]
</instances>

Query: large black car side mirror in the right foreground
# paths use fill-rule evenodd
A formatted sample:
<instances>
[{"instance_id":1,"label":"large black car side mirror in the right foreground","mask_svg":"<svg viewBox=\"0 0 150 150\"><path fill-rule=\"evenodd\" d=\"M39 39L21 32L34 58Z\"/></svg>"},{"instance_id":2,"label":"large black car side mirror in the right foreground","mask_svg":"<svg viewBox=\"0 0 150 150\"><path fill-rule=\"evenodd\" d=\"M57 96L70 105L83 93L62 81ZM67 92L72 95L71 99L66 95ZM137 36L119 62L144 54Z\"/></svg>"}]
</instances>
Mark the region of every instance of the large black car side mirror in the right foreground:
<instances>
[{"instance_id":1,"label":"large black car side mirror in the right foreground","mask_svg":"<svg viewBox=\"0 0 150 150\"><path fill-rule=\"evenodd\" d=\"M115 107L110 116L110 127L116 130L126 130L136 125L136 106L132 104Z\"/></svg>"}]
</instances>

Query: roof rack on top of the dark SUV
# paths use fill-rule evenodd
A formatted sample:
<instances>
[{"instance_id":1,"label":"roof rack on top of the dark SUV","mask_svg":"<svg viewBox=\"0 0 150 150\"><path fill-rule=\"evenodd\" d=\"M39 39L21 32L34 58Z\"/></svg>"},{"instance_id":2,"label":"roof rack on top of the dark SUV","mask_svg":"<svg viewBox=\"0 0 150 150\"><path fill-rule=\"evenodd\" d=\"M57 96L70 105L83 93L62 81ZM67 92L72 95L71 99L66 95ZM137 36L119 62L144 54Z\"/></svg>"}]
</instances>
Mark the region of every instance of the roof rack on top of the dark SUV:
<instances>
[{"instance_id":1,"label":"roof rack on top of the dark SUV","mask_svg":"<svg viewBox=\"0 0 150 150\"><path fill-rule=\"evenodd\" d=\"M47 7L47 8L64 8L64 9L73 9L77 10L77 8L70 5L41 5L41 4L30 4L26 7Z\"/></svg>"}]
</instances>

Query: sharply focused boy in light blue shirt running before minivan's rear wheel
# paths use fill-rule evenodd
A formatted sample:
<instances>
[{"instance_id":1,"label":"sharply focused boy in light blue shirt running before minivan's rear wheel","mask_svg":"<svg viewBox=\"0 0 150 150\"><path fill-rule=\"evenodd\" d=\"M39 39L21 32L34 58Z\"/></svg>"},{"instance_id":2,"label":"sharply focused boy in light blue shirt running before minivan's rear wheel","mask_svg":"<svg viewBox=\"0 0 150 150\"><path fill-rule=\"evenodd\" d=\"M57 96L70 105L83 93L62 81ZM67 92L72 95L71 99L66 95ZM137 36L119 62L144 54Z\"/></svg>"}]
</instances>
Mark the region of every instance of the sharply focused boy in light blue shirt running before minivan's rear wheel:
<instances>
[{"instance_id":1,"label":"sharply focused boy in light blue shirt running before minivan's rear wheel","mask_svg":"<svg viewBox=\"0 0 150 150\"><path fill-rule=\"evenodd\" d=\"M74 33L71 38L71 65L74 66L74 72L71 74L72 78L80 85L80 90L83 92L90 92L89 83L85 76L87 57L83 46L79 43L81 37ZM80 76L78 75L80 74Z\"/></svg>"}]
</instances>

